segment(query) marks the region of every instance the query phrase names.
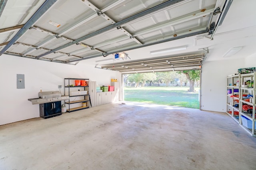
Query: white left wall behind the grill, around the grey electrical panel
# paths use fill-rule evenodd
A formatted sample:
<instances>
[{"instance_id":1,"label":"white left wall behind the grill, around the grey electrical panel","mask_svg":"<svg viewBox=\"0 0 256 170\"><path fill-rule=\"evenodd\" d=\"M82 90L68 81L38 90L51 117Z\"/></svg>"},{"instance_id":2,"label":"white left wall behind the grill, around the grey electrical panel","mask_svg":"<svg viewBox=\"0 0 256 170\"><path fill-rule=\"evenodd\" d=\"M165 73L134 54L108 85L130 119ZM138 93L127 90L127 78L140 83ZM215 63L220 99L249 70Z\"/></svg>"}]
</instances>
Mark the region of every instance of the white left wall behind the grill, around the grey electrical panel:
<instances>
[{"instance_id":1,"label":"white left wall behind the grill, around the grey electrical panel","mask_svg":"<svg viewBox=\"0 0 256 170\"><path fill-rule=\"evenodd\" d=\"M16 74L25 74L25 89L17 89ZM62 85L64 95L64 78L89 78L99 86L110 85L111 78L121 82L120 72L94 68L86 60L70 65L2 55L0 125L39 117L39 105L32 105L28 99L38 98L40 87L42 91L58 91L58 85Z\"/></svg>"}]
</instances>

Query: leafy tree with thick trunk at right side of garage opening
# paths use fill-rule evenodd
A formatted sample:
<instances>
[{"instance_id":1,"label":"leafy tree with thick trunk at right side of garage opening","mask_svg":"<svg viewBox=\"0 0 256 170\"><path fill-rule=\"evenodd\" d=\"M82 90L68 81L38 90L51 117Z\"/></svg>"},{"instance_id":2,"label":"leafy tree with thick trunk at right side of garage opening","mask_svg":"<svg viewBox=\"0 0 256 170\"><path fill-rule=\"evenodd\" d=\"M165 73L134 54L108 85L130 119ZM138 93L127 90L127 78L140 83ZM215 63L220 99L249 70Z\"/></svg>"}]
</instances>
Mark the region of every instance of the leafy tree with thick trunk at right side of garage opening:
<instances>
[{"instance_id":1,"label":"leafy tree with thick trunk at right side of garage opening","mask_svg":"<svg viewBox=\"0 0 256 170\"><path fill-rule=\"evenodd\" d=\"M200 80L200 70L184 70L180 73L185 74L189 81L189 92L194 92L195 81Z\"/></svg>"}]
</instances>

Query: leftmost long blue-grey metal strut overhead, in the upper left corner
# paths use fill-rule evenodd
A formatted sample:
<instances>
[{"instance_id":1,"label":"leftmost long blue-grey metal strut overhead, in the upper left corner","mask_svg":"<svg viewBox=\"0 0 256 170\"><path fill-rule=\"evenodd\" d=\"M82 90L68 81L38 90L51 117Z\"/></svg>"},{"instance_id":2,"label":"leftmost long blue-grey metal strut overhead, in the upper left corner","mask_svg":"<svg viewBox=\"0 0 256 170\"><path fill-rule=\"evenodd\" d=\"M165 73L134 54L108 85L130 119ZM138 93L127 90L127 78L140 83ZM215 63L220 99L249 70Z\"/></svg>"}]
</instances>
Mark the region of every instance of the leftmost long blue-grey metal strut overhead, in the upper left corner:
<instances>
[{"instance_id":1,"label":"leftmost long blue-grey metal strut overhead, in the upper left corner","mask_svg":"<svg viewBox=\"0 0 256 170\"><path fill-rule=\"evenodd\" d=\"M57 0L46 0L28 22L18 31L10 42L0 51L0 56L6 52L28 29L56 2Z\"/></svg>"}]
</instances>

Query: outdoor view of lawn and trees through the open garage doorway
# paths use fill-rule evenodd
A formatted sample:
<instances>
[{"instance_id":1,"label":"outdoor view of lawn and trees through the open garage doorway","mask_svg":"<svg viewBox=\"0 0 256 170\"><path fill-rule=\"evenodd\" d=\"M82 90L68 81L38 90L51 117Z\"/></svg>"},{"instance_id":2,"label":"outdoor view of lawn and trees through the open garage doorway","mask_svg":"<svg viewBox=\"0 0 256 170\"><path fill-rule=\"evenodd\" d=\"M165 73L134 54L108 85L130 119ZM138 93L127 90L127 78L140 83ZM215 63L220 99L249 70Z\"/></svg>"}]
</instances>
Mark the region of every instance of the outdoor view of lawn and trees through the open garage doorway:
<instances>
[{"instance_id":1,"label":"outdoor view of lawn and trees through the open garage doorway","mask_svg":"<svg viewBox=\"0 0 256 170\"><path fill-rule=\"evenodd\" d=\"M199 109L200 70L124 74L124 100Z\"/></svg>"}]
</instances>

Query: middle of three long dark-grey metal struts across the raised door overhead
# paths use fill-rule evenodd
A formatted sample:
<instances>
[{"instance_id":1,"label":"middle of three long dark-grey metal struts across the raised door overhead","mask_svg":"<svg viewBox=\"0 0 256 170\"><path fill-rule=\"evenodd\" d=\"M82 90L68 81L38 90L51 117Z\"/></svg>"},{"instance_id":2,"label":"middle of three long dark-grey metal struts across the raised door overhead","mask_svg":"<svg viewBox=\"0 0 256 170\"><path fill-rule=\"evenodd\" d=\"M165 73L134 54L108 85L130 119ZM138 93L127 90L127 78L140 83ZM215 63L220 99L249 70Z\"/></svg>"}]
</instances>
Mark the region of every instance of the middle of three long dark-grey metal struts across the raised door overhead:
<instances>
[{"instance_id":1,"label":"middle of three long dark-grey metal struts across the raised door overhead","mask_svg":"<svg viewBox=\"0 0 256 170\"><path fill-rule=\"evenodd\" d=\"M59 51L59 50L61 50L61 49L64 49L64 48L66 48L66 47L69 47L70 45L73 45L73 44L76 44L76 43L80 43L80 42L82 42L82 41L84 41L84 40L86 40L86 39L88 39L88 38L90 38L90 37L94 37L94 36L99 35L99 34L101 34L101 33L103 33L103 32L109 31L110 29L113 29L113 28L122 26L122 25L124 25L124 24L126 24L126 23L128 23L128 22L130 22L130 21L136 20L136 19L141 18L141 17L143 17L143 16L146 16L146 15L148 15L148 14L150 14L150 13L153 13L153 12L156 12L156 11L159 11L159 10L162 10L163 8L166 8L167 6L171 6L171 5L174 5L174 4L176 4L176 3L178 3L178 2L182 2L182 1L184 1L184 0L169 0L169 1L167 1L167 2L164 2L164 3L162 3L162 4L159 4L159 5L157 5L157 6L154 6L154 7L150 8L150 9L148 9L148 10L145 10L145 11L143 11L143 12L140 12L140 13L138 13L138 14L135 14L134 16L131 16L131 17L129 17L129 18L126 18L126 19L124 19L124 20L122 20L122 21L119 21L119 22L116 22L116 23L114 23L114 24L112 24L112 25L109 25L109 26L107 26L107 27L105 27L105 28L103 28L103 29L100 29L100 30L98 30L98 31L95 31L94 33L90 33L90 34L88 34L88 35L86 35L86 36L84 36L84 37L81 37L81 38L77 39L76 41L73 41L73 42L68 43L68 44L66 44L66 45L63 45L63 46L61 46L61 47L58 47L58 48L56 48L56 49L53 49L52 51L49 51L49 52L44 53L44 54L42 54L42 55L39 55L38 57L36 57L36 59L39 59L39 58L41 58L41 57L44 57L45 55L48 55L48 54L53 53L53 52L55 52L55 51Z\"/></svg>"}]
</instances>

